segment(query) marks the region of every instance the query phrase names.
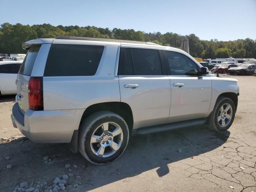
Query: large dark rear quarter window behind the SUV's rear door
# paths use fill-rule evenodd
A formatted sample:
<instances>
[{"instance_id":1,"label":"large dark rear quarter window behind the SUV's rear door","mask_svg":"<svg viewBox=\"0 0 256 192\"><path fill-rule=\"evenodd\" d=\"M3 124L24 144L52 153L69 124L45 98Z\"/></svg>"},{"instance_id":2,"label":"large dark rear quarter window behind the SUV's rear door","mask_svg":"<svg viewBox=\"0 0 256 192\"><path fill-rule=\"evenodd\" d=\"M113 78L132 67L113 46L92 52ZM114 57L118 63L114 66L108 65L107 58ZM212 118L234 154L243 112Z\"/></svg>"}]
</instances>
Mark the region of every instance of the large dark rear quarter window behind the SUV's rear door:
<instances>
[{"instance_id":1,"label":"large dark rear quarter window behind the SUV's rear door","mask_svg":"<svg viewBox=\"0 0 256 192\"><path fill-rule=\"evenodd\" d=\"M104 46L52 44L44 76L92 76L103 50Z\"/></svg>"}]
</instances>

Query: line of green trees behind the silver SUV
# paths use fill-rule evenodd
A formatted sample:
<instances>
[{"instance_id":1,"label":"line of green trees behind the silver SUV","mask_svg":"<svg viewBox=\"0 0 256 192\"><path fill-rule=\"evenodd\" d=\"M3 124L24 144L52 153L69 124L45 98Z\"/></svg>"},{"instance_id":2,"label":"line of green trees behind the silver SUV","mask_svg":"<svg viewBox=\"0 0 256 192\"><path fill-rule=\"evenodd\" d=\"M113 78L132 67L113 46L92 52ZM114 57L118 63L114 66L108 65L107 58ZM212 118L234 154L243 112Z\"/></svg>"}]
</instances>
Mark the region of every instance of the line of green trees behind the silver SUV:
<instances>
[{"instance_id":1,"label":"line of green trees behind the silver SUV","mask_svg":"<svg viewBox=\"0 0 256 192\"><path fill-rule=\"evenodd\" d=\"M180 48L182 36L177 33L146 33L133 29L98 28L95 26L52 26L50 24L15 25L4 23L0 27L0 53L26 53L22 43L36 38L55 38L59 35L93 38L110 38L154 42L164 46ZM256 58L256 40L250 38L234 41L217 39L200 40L195 34L186 35L190 54L200 58Z\"/></svg>"}]
</instances>

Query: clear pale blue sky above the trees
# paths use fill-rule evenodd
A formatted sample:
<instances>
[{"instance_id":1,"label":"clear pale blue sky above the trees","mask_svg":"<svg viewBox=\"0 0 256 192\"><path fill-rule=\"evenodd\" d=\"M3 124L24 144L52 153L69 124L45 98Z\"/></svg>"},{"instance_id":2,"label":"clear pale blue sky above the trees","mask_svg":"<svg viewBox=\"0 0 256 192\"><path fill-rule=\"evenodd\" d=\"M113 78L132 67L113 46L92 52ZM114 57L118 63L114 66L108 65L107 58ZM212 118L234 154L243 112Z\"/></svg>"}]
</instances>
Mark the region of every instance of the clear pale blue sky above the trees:
<instances>
[{"instance_id":1,"label":"clear pale blue sky above the trees","mask_svg":"<svg viewBox=\"0 0 256 192\"><path fill-rule=\"evenodd\" d=\"M256 0L8 0L4 5L0 24L90 25L194 33L204 40L256 40Z\"/></svg>"}]
</instances>

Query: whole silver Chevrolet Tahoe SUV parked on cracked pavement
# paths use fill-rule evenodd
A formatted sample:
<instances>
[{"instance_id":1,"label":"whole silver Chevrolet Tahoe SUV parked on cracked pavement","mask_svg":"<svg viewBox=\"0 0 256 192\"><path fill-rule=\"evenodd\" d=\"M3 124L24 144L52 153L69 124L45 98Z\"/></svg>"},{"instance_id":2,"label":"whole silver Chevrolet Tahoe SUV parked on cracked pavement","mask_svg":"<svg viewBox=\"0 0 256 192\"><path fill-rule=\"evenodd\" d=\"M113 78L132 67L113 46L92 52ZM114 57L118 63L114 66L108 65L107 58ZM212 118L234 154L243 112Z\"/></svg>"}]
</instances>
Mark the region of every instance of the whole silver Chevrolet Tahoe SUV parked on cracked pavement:
<instances>
[{"instance_id":1,"label":"whole silver Chevrolet Tahoe SUV parked on cracked pavement","mask_svg":"<svg viewBox=\"0 0 256 192\"><path fill-rule=\"evenodd\" d=\"M223 132L234 120L237 81L180 49L68 36L22 47L14 127L33 142L68 143L94 164L117 159L132 134L201 124Z\"/></svg>"}]
</instances>

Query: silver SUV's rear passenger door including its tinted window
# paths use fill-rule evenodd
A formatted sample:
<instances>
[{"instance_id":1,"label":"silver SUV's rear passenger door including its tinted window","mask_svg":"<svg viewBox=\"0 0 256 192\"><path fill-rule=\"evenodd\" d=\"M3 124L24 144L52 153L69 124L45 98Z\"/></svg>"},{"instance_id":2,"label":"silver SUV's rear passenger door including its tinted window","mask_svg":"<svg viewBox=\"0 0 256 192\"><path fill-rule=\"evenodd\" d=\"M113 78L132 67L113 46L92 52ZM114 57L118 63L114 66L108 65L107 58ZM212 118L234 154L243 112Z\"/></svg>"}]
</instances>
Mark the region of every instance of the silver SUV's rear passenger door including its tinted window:
<instances>
[{"instance_id":1,"label":"silver SUV's rear passenger door including its tinted window","mask_svg":"<svg viewBox=\"0 0 256 192\"><path fill-rule=\"evenodd\" d=\"M166 122L171 90L161 51L120 48L118 77L121 102L132 109L134 129Z\"/></svg>"}]
</instances>

